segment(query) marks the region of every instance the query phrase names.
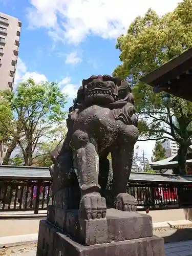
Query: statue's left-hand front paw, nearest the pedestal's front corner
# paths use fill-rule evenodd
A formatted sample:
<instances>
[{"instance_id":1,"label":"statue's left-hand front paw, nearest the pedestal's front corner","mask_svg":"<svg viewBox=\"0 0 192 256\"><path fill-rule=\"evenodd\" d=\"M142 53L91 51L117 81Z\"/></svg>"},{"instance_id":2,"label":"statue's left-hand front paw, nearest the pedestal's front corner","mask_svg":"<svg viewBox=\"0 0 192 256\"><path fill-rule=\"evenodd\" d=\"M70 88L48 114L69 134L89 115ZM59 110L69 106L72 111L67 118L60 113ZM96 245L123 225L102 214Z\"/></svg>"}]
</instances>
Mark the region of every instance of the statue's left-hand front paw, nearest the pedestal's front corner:
<instances>
[{"instance_id":1,"label":"statue's left-hand front paw, nearest the pedestal's front corner","mask_svg":"<svg viewBox=\"0 0 192 256\"><path fill-rule=\"evenodd\" d=\"M80 219L101 219L106 216L106 201L99 193L89 193L81 198L79 205Z\"/></svg>"}]
</instances>

